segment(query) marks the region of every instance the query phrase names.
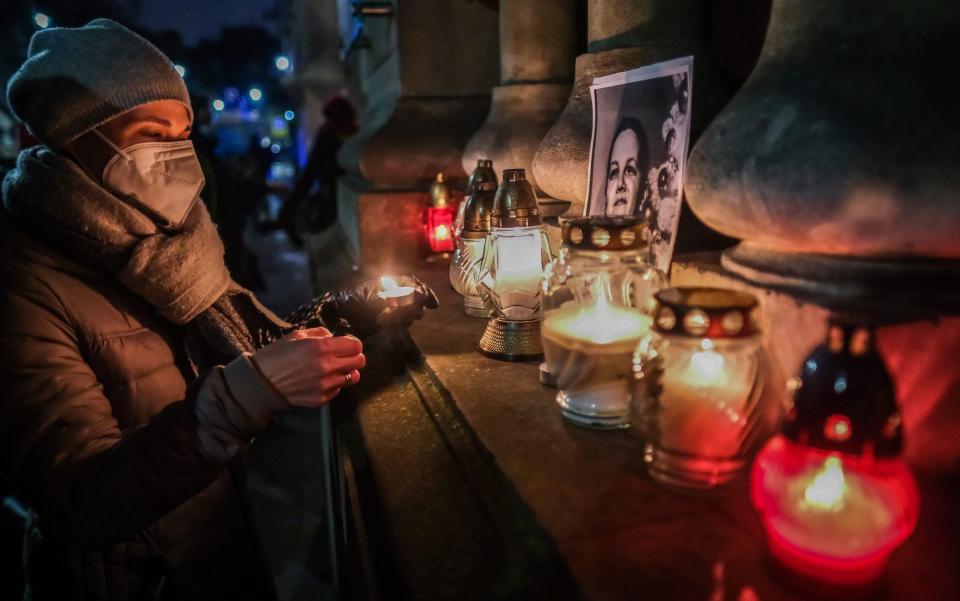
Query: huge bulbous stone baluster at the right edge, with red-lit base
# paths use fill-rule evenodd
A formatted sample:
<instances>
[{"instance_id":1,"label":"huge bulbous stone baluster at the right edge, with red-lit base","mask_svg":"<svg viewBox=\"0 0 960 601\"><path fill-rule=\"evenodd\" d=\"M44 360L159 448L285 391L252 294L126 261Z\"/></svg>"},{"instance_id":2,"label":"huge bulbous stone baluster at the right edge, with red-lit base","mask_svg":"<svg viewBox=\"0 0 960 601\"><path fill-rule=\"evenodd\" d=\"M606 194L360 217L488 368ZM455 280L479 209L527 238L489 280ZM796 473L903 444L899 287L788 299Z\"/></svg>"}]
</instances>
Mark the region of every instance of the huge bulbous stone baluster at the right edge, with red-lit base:
<instances>
[{"instance_id":1,"label":"huge bulbous stone baluster at the right edge, with red-lit base","mask_svg":"<svg viewBox=\"0 0 960 601\"><path fill-rule=\"evenodd\" d=\"M743 240L717 277L764 298L768 346L810 348L824 308L890 324L878 342L907 457L948 471L960 465L958 33L947 0L774 0L760 60L694 147L685 189L704 222ZM791 353L788 375L803 351Z\"/></svg>"}]
</instances>

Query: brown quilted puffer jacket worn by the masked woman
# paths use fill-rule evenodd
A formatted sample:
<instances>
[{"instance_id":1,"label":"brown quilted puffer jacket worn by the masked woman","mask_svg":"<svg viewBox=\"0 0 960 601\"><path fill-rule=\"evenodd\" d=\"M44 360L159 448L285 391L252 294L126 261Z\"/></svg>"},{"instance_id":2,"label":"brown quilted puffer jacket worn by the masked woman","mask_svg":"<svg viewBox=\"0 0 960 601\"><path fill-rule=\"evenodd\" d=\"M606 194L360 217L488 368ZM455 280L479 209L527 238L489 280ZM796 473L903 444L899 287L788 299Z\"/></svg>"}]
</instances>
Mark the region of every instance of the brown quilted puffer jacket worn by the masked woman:
<instances>
[{"instance_id":1,"label":"brown quilted puffer jacket worn by the masked woman","mask_svg":"<svg viewBox=\"0 0 960 601\"><path fill-rule=\"evenodd\" d=\"M273 598L241 464L285 402L248 357L196 377L181 348L0 209L0 477L32 508L28 598Z\"/></svg>"}]
</instances>

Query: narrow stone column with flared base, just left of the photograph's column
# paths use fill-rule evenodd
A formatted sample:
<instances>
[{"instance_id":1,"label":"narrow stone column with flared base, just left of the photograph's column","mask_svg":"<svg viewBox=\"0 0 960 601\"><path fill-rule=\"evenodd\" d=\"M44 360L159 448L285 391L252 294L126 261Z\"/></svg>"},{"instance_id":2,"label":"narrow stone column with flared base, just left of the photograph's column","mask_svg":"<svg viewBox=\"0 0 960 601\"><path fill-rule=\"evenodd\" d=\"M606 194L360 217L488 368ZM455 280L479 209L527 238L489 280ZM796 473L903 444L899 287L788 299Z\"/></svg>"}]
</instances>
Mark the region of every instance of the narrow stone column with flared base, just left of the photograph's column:
<instances>
[{"instance_id":1,"label":"narrow stone column with flared base, just left of the photograph's column","mask_svg":"<svg viewBox=\"0 0 960 601\"><path fill-rule=\"evenodd\" d=\"M500 85L490 114L470 139L463 167L493 159L497 171L523 168L538 196L533 155L570 94L576 43L573 0L501 0Z\"/></svg>"}]
</instances>

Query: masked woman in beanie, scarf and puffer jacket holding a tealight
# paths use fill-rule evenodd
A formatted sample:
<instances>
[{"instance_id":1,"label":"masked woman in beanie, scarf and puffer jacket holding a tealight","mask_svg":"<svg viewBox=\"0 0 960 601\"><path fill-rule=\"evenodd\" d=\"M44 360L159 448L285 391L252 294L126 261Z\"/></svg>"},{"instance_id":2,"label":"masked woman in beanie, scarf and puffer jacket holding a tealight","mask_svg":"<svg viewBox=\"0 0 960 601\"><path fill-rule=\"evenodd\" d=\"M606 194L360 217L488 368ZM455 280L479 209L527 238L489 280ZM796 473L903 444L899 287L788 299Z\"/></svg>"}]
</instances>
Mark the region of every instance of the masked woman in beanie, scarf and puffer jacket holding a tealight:
<instances>
[{"instance_id":1,"label":"masked woman in beanie, scarf and puffer jacket holding a tealight","mask_svg":"<svg viewBox=\"0 0 960 601\"><path fill-rule=\"evenodd\" d=\"M360 338L436 297L409 278L412 308L368 285L290 321L238 286L197 202L183 80L117 23L36 33L7 97L41 142L0 209L0 478L31 509L25 598L273 598L246 449L355 384Z\"/></svg>"}]
</instances>

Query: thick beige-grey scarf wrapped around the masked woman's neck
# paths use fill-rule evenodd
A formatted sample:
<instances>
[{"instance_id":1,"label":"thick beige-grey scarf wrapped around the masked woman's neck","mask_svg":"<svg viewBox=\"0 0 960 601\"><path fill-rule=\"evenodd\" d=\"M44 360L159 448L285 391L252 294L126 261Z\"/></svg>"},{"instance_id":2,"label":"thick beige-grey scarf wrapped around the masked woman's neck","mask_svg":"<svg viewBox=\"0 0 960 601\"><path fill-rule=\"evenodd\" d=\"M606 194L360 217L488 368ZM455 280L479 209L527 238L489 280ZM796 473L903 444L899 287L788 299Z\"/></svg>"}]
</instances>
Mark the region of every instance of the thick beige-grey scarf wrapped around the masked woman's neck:
<instances>
[{"instance_id":1,"label":"thick beige-grey scarf wrapped around the masked woman's neck","mask_svg":"<svg viewBox=\"0 0 960 601\"><path fill-rule=\"evenodd\" d=\"M72 160L37 146L21 152L4 178L3 204L28 231L115 275L165 319L186 326L198 368L253 352L290 327L230 277L202 202L182 229L161 230Z\"/></svg>"}]
</instances>

